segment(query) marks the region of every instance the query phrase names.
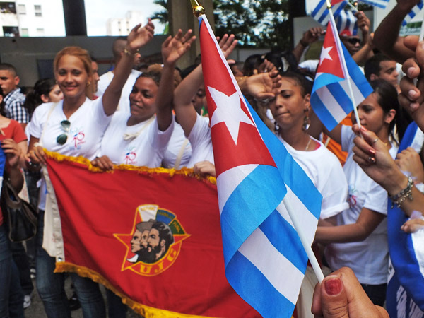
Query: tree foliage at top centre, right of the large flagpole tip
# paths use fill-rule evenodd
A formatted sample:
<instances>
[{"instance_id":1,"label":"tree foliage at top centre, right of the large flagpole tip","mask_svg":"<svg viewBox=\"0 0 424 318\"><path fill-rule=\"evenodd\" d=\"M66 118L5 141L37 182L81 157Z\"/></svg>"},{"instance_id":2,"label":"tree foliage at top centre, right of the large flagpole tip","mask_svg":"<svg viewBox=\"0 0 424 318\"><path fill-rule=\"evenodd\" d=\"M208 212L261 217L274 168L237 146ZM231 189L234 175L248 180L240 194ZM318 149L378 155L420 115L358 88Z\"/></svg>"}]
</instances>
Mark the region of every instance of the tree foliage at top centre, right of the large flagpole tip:
<instances>
[{"instance_id":1,"label":"tree foliage at top centre, right of the large flagpole tip","mask_svg":"<svg viewBox=\"0 0 424 318\"><path fill-rule=\"evenodd\" d=\"M216 35L240 47L290 47L288 0L213 0Z\"/></svg>"}]
</instances>

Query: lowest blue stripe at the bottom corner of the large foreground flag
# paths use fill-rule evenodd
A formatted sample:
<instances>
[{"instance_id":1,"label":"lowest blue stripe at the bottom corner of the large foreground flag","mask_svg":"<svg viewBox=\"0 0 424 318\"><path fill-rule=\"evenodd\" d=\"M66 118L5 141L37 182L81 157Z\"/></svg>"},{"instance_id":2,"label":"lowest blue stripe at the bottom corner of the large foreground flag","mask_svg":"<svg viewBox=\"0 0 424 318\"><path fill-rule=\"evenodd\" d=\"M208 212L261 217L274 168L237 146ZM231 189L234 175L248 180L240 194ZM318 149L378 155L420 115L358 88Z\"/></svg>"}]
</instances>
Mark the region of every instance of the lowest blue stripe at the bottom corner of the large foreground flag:
<instances>
[{"instance_id":1,"label":"lowest blue stripe at the bottom corner of the large foreground flag","mask_svg":"<svg viewBox=\"0 0 424 318\"><path fill-rule=\"evenodd\" d=\"M260 307L264 318L290 318L295 304L290 302L269 283L264 274L259 271L246 257L237 252L225 269L228 282L237 293L252 307ZM252 293L252 286L258 286ZM263 304L269 304L263 307ZM274 305L278 304L278 305Z\"/></svg>"}]
</instances>

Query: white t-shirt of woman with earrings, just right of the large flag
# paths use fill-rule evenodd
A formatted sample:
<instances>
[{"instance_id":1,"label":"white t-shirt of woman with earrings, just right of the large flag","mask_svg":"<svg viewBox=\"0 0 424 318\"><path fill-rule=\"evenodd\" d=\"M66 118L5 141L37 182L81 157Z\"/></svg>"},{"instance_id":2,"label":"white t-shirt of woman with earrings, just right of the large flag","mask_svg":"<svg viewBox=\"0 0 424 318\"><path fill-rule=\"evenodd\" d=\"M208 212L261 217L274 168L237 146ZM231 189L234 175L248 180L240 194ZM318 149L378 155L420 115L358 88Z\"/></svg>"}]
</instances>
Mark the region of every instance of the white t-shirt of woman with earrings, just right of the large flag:
<instances>
[{"instance_id":1,"label":"white t-shirt of woman with earrings, just right of the large flag","mask_svg":"<svg viewBox=\"0 0 424 318\"><path fill-rule=\"evenodd\" d=\"M312 137L310 137L312 138ZM312 183L322 195L320 218L336 216L349 207L347 200L348 182L343 174L336 155L331 153L321 141L314 151L298 151L285 142L278 134L278 139L284 144L288 153L302 167Z\"/></svg>"}]
</instances>

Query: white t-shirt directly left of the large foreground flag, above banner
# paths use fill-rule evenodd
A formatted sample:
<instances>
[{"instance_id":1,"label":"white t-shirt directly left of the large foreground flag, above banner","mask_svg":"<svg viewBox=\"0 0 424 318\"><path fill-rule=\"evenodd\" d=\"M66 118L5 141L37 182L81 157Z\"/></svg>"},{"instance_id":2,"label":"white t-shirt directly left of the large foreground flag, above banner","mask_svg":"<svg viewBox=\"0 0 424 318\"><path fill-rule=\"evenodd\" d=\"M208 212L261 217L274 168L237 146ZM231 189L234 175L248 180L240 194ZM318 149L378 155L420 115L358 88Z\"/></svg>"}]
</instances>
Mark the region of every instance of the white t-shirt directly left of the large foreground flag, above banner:
<instances>
[{"instance_id":1,"label":"white t-shirt directly left of the large foreground flag, above banner","mask_svg":"<svg viewBox=\"0 0 424 318\"><path fill-rule=\"evenodd\" d=\"M190 158L187 167L193 167L195 163L205 160L215 163L208 117L202 117L197 114L196 122L192 131L190 131L188 139L192 144L192 158Z\"/></svg>"}]
</instances>

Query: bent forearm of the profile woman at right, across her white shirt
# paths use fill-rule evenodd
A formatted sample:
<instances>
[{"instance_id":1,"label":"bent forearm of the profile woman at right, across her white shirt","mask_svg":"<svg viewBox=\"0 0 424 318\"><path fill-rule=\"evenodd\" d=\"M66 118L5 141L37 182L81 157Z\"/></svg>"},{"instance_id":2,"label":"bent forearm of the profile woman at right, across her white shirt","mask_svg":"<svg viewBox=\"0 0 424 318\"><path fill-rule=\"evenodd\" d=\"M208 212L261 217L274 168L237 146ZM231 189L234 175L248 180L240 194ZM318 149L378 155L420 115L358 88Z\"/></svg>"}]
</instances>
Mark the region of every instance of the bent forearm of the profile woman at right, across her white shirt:
<instances>
[{"instance_id":1,"label":"bent forearm of the profile woman at right, across her white shirt","mask_svg":"<svg viewBox=\"0 0 424 318\"><path fill-rule=\"evenodd\" d=\"M382 213L363 208L356 223L319 226L315 234L315 240L323 244L360 242L370 236L385 217Z\"/></svg>"}]
</instances>

